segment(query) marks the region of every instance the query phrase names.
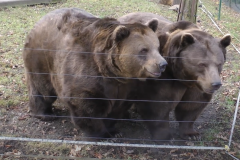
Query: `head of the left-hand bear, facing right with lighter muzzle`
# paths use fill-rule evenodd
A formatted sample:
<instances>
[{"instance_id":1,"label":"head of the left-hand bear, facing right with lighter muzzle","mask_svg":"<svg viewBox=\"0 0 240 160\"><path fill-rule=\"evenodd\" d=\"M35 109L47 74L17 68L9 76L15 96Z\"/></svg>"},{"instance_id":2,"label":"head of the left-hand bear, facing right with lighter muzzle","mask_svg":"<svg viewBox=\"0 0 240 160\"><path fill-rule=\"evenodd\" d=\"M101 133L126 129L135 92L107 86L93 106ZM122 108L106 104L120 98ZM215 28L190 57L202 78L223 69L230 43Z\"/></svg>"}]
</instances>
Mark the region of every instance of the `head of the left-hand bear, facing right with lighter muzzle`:
<instances>
[{"instance_id":1,"label":"head of the left-hand bear, facing right with lighter muzzle","mask_svg":"<svg viewBox=\"0 0 240 160\"><path fill-rule=\"evenodd\" d=\"M152 20L147 26L140 23L117 24L104 40L99 40L101 34L94 38L94 43L97 43L94 46L98 46L94 52L109 53L104 64L99 55L95 57L101 72L108 68L115 76L159 77L167 62L159 53L159 39L155 34L157 25L157 20ZM102 65L105 67L101 69Z\"/></svg>"}]
</instances>

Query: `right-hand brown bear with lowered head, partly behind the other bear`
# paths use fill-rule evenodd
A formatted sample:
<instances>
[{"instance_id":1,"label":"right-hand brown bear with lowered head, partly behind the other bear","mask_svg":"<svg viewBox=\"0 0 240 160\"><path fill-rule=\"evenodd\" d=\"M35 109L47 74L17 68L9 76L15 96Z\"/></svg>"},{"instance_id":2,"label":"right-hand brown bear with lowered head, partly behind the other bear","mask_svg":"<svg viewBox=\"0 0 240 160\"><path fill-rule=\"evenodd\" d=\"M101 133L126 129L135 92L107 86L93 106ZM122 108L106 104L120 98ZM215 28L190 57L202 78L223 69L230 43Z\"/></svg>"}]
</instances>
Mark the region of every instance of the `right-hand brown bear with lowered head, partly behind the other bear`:
<instances>
[{"instance_id":1,"label":"right-hand brown bear with lowered head, partly behind the other bear","mask_svg":"<svg viewBox=\"0 0 240 160\"><path fill-rule=\"evenodd\" d=\"M154 102L139 102L136 107L143 119L156 120L146 122L152 139L171 138L168 121L172 110L179 121L180 137L198 137L193 124L222 85L220 73L231 36L217 39L191 22L169 23L152 13L130 13L118 20L147 24L153 18L160 24L156 33L168 66L158 80L139 82L139 99Z\"/></svg>"}]
</instances>

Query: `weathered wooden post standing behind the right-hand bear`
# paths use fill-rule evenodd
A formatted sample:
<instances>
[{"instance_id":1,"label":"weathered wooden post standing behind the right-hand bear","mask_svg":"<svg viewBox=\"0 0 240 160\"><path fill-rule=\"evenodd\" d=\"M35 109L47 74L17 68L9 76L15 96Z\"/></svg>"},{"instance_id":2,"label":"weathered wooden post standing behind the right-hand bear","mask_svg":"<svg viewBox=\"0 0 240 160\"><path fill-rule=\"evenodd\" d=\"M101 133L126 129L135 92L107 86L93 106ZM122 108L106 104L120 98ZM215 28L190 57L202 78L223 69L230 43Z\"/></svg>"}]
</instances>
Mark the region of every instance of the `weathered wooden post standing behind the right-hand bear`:
<instances>
[{"instance_id":1,"label":"weathered wooden post standing behind the right-hand bear","mask_svg":"<svg viewBox=\"0 0 240 160\"><path fill-rule=\"evenodd\" d=\"M196 23L198 0L181 0L177 21Z\"/></svg>"}]
</instances>

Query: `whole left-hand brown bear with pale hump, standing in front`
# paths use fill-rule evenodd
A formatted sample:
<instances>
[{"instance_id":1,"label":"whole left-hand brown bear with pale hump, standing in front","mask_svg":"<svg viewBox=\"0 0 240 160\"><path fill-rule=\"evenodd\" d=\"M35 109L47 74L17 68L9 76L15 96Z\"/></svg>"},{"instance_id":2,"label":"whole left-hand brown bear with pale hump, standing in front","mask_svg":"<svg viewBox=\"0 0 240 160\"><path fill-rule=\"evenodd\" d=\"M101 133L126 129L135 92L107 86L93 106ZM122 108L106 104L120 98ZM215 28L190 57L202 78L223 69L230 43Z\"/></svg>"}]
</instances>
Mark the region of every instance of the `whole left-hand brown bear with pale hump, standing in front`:
<instances>
[{"instance_id":1,"label":"whole left-hand brown bear with pale hump, standing in front","mask_svg":"<svg viewBox=\"0 0 240 160\"><path fill-rule=\"evenodd\" d=\"M159 77L167 65L157 25L120 24L76 8L48 13L28 34L23 51L33 115L51 119L58 97L90 137L112 136L102 119L130 97L131 78Z\"/></svg>"}]
</instances>

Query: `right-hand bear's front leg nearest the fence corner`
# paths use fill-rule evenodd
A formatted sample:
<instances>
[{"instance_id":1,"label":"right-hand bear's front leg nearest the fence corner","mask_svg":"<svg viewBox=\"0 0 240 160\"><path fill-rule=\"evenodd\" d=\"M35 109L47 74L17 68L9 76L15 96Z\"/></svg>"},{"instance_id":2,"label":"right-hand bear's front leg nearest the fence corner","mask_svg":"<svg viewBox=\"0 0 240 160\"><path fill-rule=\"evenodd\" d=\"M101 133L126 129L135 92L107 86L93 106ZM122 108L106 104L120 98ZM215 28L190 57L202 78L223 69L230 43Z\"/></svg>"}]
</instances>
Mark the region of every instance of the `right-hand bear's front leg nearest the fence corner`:
<instances>
[{"instance_id":1,"label":"right-hand bear's front leg nearest the fence corner","mask_svg":"<svg viewBox=\"0 0 240 160\"><path fill-rule=\"evenodd\" d=\"M181 101L196 101L181 102L175 108L175 117L179 122L179 135L183 139L195 138L200 139L200 134L194 130L194 122L202 113L203 109L210 102L211 94L201 93L199 90L189 88L184 94ZM199 103L198 103L199 102ZM206 103L201 103L206 102ZM181 122L182 121L182 122Z\"/></svg>"}]
</instances>

